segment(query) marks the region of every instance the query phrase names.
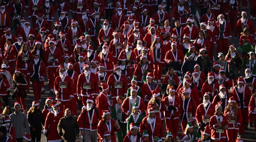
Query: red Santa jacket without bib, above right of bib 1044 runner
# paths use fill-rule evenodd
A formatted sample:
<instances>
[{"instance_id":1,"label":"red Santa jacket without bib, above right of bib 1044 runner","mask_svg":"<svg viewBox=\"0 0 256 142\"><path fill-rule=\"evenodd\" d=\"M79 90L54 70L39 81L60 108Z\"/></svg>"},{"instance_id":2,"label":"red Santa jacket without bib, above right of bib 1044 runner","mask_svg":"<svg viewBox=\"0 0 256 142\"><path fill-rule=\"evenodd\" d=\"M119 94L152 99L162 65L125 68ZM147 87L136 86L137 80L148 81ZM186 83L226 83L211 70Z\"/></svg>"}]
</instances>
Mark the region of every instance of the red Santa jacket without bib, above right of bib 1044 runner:
<instances>
[{"instance_id":1,"label":"red Santa jacket without bib, above right of bib 1044 runner","mask_svg":"<svg viewBox=\"0 0 256 142\"><path fill-rule=\"evenodd\" d=\"M250 98L252 96L251 90L250 90L250 88L248 86L243 85L244 86L243 100L240 100L240 97L238 95L239 92L238 92L237 86L238 85L233 87L231 94L234 96L234 98L236 100L236 103L239 106L239 108L241 108L241 104L243 104L243 108L248 108L249 101L250 101Z\"/></svg>"}]
</instances>

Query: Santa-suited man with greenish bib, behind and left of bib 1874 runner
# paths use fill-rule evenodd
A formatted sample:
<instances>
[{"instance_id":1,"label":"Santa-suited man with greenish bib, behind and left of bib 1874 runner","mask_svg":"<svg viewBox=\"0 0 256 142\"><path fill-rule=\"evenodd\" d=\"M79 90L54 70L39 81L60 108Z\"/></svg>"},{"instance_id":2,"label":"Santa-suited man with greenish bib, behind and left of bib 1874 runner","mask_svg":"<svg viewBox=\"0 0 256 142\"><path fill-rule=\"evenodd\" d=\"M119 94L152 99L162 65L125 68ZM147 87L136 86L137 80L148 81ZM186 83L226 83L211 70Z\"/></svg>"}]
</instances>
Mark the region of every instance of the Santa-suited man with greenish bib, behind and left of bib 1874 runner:
<instances>
[{"instance_id":1,"label":"Santa-suited man with greenish bib, behind and left of bib 1874 runner","mask_svg":"<svg viewBox=\"0 0 256 142\"><path fill-rule=\"evenodd\" d=\"M57 77L55 75L55 72L62 62L62 56L61 56L61 51L59 48L56 48L55 46L55 41L49 41L50 48L45 50L45 55L44 59L46 62L46 66L48 66L47 70L47 77L49 81L49 89L50 93L53 93L53 87L54 87L54 80Z\"/></svg>"}]
</instances>

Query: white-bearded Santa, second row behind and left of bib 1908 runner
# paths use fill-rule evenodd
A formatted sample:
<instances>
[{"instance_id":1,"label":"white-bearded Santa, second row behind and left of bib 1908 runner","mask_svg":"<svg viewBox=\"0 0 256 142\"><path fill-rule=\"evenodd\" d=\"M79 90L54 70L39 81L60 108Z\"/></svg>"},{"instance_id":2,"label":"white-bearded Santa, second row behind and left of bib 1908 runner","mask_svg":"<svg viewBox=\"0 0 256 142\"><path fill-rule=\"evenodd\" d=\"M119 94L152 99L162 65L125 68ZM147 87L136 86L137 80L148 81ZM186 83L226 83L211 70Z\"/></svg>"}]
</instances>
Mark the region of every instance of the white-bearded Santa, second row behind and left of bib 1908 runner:
<instances>
[{"instance_id":1,"label":"white-bearded Santa, second row behind and left of bib 1908 runner","mask_svg":"<svg viewBox=\"0 0 256 142\"><path fill-rule=\"evenodd\" d=\"M113 73L113 64L116 63L116 61L113 60L112 54L108 51L108 43L105 42L102 46L102 51L99 54L100 62L104 64L105 70L108 73L108 75Z\"/></svg>"}]
</instances>

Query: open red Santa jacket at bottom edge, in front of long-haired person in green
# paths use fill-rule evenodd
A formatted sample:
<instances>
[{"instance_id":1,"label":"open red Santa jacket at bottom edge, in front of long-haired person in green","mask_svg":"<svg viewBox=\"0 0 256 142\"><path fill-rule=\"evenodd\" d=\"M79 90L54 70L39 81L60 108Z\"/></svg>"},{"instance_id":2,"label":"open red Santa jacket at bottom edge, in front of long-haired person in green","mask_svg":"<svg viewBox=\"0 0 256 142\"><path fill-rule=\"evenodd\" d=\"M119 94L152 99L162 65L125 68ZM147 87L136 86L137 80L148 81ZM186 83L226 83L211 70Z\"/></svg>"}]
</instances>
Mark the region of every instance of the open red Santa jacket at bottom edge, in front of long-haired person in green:
<instances>
[{"instance_id":1,"label":"open red Santa jacket at bottom edge, in front of long-haired person in green","mask_svg":"<svg viewBox=\"0 0 256 142\"><path fill-rule=\"evenodd\" d=\"M110 135L111 135L111 140L116 140L116 135L115 132L120 130L120 127L118 125L118 127L115 126L116 121L114 119L110 119L109 120L109 125L104 122L103 120L100 120L100 122L98 123L97 126L97 133L99 135L99 140L100 142L103 142L104 139L104 132L105 131L109 131Z\"/></svg>"}]
</instances>

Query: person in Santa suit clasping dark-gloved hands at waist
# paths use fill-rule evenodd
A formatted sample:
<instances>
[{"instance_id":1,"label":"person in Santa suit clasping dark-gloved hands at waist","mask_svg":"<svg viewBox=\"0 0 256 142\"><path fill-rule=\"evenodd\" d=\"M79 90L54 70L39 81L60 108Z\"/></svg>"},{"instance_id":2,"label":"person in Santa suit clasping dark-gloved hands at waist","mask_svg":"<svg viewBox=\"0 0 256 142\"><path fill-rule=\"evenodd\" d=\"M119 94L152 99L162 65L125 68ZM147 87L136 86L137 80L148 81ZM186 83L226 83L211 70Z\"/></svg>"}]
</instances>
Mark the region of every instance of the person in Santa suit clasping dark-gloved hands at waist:
<instances>
[{"instance_id":1,"label":"person in Santa suit clasping dark-gloved hands at waist","mask_svg":"<svg viewBox=\"0 0 256 142\"><path fill-rule=\"evenodd\" d=\"M164 97L164 120L167 132L172 132L173 138L176 138L179 128L181 102L178 96L175 96L175 89L170 86L168 96Z\"/></svg>"}]
</instances>

